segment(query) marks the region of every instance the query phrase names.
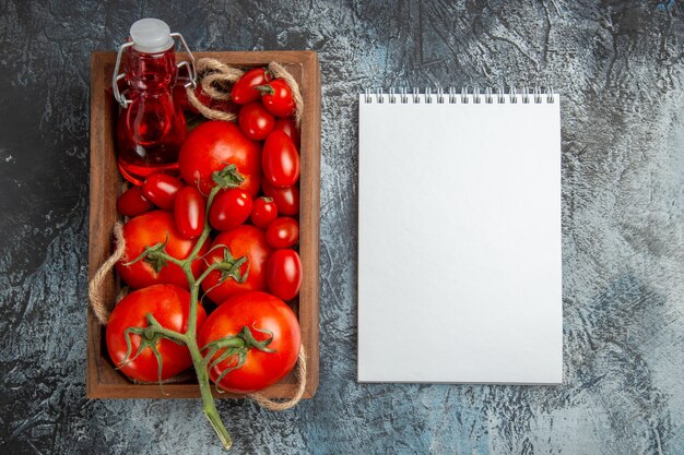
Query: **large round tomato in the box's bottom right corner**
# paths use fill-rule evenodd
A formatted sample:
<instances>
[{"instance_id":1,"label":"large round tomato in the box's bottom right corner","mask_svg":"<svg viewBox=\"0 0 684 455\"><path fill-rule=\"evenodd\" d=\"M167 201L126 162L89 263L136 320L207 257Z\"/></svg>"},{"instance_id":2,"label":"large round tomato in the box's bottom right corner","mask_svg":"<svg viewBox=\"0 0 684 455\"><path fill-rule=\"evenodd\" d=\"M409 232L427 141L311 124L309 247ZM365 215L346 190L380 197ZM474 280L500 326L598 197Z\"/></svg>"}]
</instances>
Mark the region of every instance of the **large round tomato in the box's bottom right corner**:
<instances>
[{"instance_id":1,"label":"large round tomato in the box's bottom right corner","mask_svg":"<svg viewBox=\"0 0 684 455\"><path fill-rule=\"evenodd\" d=\"M221 388L240 394L259 391L285 378L297 362L302 344L297 316L285 302L266 292L243 292L223 302L209 316L200 331L199 345L204 347L216 339L237 335L243 327L248 327L257 342L272 337L267 347L273 351L249 348L245 363L219 383ZM214 359L222 352L219 350ZM236 356L232 356L211 368L211 380L216 382L221 373L236 362Z\"/></svg>"}]
</instances>

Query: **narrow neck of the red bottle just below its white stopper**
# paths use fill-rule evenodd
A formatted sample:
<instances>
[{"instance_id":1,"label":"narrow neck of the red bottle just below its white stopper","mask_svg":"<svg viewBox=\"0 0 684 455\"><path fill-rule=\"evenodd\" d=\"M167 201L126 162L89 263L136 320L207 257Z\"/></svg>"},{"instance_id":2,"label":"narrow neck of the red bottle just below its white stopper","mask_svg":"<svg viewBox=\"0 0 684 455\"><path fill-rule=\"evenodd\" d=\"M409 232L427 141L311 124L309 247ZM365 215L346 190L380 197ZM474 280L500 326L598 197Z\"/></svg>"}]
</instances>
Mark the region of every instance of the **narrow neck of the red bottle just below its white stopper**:
<instances>
[{"instance_id":1,"label":"narrow neck of the red bottle just below its white stopper","mask_svg":"<svg viewBox=\"0 0 684 455\"><path fill-rule=\"evenodd\" d=\"M129 48L126 56L126 82L131 91L168 92L176 83L174 48L160 53L145 53Z\"/></svg>"}]
</instances>

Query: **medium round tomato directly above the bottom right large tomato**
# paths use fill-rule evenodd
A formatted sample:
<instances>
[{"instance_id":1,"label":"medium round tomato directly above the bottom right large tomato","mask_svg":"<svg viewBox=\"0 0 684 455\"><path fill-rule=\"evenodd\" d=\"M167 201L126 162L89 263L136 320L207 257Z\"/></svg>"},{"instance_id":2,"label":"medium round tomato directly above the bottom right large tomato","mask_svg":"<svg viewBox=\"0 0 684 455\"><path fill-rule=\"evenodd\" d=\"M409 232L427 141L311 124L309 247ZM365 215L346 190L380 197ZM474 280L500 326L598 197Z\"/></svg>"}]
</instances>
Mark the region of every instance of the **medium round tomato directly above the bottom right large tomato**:
<instances>
[{"instance_id":1,"label":"medium round tomato directly above the bottom right large tomato","mask_svg":"<svg viewBox=\"0 0 684 455\"><path fill-rule=\"evenodd\" d=\"M247 273L245 283L237 283L228 277L216 286L221 280L221 272L213 271L202 282L202 289L210 299L221 303L236 292L266 289L263 274L266 273L266 261L271 255L272 250L259 228L243 225L227 232L221 232L214 239L212 249L217 246L226 246L235 260L247 256L247 263L240 267L240 274L244 276L248 270L249 273ZM215 248L207 255L207 263L211 265L214 262L221 262L224 259L224 253L225 248Z\"/></svg>"}]
</instances>

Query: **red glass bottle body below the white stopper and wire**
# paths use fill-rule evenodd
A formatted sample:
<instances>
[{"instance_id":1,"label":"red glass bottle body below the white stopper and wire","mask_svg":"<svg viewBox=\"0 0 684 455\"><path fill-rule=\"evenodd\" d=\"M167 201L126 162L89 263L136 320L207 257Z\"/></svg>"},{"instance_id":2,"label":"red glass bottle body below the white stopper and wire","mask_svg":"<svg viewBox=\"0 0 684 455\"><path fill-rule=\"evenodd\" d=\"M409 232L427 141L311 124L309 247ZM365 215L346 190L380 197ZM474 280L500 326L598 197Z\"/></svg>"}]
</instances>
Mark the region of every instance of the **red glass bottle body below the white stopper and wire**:
<instances>
[{"instance_id":1,"label":"red glass bottle body below the white stopper and wire","mask_svg":"<svg viewBox=\"0 0 684 455\"><path fill-rule=\"evenodd\" d=\"M118 165L121 175L142 184L153 172L178 169L178 151L186 139L182 110L174 103L176 55L173 46L145 53L130 47L123 68L131 101L121 108L118 122Z\"/></svg>"}]
</instances>

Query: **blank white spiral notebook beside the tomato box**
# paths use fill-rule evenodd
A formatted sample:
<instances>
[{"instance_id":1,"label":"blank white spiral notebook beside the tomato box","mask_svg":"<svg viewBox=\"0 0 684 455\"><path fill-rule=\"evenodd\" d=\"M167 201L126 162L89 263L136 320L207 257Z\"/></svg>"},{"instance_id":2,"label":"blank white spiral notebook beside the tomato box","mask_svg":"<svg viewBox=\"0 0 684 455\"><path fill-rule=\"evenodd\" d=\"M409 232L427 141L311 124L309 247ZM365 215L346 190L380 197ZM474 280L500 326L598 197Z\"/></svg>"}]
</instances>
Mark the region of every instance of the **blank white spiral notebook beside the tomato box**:
<instances>
[{"instance_id":1,"label":"blank white spiral notebook beside the tomato box","mask_svg":"<svg viewBox=\"0 0 684 455\"><path fill-rule=\"evenodd\" d=\"M359 95L358 381L563 379L553 93Z\"/></svg>"}]
</instances>

